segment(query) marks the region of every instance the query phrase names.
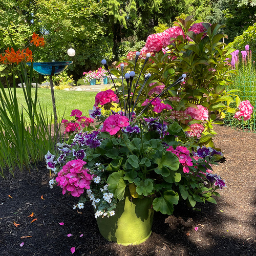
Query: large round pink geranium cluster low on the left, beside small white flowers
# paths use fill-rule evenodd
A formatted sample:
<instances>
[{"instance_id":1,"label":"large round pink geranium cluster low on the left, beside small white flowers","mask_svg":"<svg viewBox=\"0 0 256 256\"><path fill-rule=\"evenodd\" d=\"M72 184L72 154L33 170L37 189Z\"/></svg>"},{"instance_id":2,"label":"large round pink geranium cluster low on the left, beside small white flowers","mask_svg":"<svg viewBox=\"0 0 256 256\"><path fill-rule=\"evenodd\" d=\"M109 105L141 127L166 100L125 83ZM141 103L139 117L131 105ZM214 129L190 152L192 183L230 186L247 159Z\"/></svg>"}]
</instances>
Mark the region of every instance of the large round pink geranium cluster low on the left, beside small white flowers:
<instances>
[{"instance_id":1,"label":"large round pink geranium cluster low on the left, beside small white flowers","mask_svg":"<svg viewBox=\"0 0 256 256\"><path fill-rule=\"evenodd\" d=\"M62 188L62 194L66 194L67 190L71 191L73 197L80 197L84 192L84 188L90 189L93 175L84 168L86 162L76 159L65 164L58 176L56 177L57 186Z\"/></svg>"}]
</instances>

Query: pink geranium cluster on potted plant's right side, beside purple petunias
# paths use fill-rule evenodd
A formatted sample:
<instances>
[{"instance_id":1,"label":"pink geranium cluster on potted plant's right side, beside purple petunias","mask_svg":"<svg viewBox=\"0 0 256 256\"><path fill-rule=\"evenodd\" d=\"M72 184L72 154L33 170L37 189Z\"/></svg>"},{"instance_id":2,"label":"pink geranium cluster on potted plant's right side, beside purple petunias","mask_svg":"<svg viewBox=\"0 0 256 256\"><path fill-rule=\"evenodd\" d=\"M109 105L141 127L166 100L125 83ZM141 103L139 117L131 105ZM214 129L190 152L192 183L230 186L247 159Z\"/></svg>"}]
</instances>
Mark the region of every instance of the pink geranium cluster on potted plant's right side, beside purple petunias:
<instances>
[{"instance_id":1,"label":"pink geranium cluster on potted plant's right side, beside purple petunias","mask_svg":"<svg viewBox=\"0 0 256 256\"><path fill-rule=\"evenodd\" d=\"M173 146L170 146L169 148L167 148L167 151L170 151L173 154L175 154L179 158L179 161L183 166L183 172L189 173L188 166L193 165L192 159L189 156L189 150L184 146L177 146L176 149L174 150Z\"/></svg>"}]
</instances>

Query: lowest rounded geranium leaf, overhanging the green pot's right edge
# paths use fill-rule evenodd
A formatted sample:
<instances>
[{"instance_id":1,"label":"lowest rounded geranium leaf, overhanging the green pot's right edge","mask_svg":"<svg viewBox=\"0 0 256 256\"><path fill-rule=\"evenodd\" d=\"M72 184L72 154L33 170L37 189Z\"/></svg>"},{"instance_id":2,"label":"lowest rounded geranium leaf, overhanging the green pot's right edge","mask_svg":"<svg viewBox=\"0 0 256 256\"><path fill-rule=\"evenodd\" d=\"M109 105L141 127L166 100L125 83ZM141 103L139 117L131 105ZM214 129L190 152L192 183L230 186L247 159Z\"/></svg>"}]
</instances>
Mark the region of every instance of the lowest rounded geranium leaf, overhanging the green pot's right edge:
<instances>
[{"instance_id":1,"label":"lowest rounded geranium leaf, overhanging the green pot's right edge","mask_svg":"<svg viewBox=\"0 0 256 256\"><path fill-rule=\"evenodd\" d=\"M164 191L161 197L155 198L153 201L153 208L156 211L161 211L162 214L172 215L174 211L174 204L178 204L179 195L173 190Z\"/></svg>"}]
</instances>

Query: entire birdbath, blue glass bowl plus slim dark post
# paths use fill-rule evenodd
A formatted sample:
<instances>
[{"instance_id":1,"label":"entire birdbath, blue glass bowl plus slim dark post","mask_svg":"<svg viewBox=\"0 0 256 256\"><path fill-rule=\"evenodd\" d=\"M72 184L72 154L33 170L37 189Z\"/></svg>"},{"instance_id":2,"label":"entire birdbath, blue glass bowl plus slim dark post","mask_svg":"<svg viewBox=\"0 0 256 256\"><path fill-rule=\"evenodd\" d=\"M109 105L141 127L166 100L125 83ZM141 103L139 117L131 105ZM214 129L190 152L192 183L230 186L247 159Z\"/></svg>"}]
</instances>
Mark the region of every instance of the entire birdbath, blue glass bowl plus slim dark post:
<instances>
[{"instance_id":1,"label":"entire birdbath, blue glass bowl plus slim dark post","mask_svg":"<svg viewBox=\"0 0 256 256\"><path fill-rule=\"evenodd\" d=\"M53 81L52 76L57 75L68 68L73 61L55 61L55 62L34 62L33 70L43 76L50 76L50 87L52 94L52 106L53 106L53 114L54 114L54 131L57 133L56 139L58 139L58 122L57 122L57 113L56 113L56 105L55 105L55 97L53 90ZM31 66L31 63L27 63L28 66Z\"/></svg>"}]
</instances>

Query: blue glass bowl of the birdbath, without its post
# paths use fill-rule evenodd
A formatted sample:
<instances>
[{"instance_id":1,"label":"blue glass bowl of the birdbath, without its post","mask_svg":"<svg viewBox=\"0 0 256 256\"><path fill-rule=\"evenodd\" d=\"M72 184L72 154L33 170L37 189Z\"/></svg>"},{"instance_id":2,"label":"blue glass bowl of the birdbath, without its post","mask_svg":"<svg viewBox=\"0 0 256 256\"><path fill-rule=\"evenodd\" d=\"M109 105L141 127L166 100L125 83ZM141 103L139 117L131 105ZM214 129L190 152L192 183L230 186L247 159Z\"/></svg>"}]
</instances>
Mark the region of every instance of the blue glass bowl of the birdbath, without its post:
<instances>
[{"instance_id":1,"label":"blue glass bowl of the birdbath, without its post","mask_svg":"<svg viewBox=\"0 0 256 256\"><path fill-rule=\"evenodd\" d=\"M53 76L67 69L72 63L73 61L34 62L33 70L43 76ZM28 62L27 65L31 66L31 62Z\"/></svg>"}]
</instances>

